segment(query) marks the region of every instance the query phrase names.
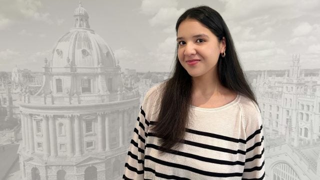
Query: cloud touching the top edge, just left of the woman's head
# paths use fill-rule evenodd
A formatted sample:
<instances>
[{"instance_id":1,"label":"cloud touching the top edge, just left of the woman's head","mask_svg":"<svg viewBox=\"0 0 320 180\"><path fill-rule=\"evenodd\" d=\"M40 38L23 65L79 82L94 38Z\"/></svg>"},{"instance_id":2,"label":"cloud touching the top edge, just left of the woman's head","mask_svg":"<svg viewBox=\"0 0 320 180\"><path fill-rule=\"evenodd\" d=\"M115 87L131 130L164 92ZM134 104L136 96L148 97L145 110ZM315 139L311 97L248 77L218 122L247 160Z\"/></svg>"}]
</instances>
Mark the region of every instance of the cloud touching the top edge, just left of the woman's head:
<instances>
[{"instance_id":1,"label":"cloud touching the top edge, just left of the woman's head","mask_svg":"<svg viewBox=\"0 0 320 180\"><path fill-rule=\"evenodd\" d=\"M154 15L160 8L176 7L177 4L177 0L142 0L140 12Z\"/></svg>"}]
</instances>

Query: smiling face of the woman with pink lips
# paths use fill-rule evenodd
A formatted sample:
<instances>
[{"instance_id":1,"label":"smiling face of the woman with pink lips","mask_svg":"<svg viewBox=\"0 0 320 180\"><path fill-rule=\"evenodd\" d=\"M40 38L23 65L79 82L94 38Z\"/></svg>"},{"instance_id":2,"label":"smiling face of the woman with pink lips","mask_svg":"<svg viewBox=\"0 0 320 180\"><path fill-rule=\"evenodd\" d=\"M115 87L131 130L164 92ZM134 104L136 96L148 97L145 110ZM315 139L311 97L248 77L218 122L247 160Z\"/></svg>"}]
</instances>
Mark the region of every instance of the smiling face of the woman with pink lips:
<instances>
[{"instance_id":1,"label":"smiling face of the woman with pink lips","mask_svg":"<svg viewBox=\"0 0 320 180\"><path fill-rule=\"evenodd\" d=\"M201 22L183 20L177 30L178 59L192 77L216 75L219 54L225 50L225 39L218 38Z\"/></svg>"}]
</instances>

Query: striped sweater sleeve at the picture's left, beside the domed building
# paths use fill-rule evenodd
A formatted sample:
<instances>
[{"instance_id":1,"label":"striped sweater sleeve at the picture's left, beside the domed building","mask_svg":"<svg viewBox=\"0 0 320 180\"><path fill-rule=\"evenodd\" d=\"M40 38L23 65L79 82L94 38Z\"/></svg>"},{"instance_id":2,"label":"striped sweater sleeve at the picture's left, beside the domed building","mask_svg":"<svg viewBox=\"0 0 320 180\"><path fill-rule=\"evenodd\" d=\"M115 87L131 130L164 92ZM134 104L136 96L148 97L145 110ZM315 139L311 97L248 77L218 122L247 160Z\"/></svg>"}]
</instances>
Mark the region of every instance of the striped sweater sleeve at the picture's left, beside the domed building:
<instances>
[{"instance_id":1,"label":"striped sweater sleeve at the picture's left, beside the domed building","mask_svg":"<svg viewBox=\"0 0 320 180\"><path fill-rule=\"evenodd\" d=\"M155 91L155 88L156 87L151 87L146 92L140 107L131 142L129 144L122 179L144 179L144 150L149 128L148 120L150 120L146 115L152 110L152 99L154 98L152 92Z\"/></svg>"}]
</instances>

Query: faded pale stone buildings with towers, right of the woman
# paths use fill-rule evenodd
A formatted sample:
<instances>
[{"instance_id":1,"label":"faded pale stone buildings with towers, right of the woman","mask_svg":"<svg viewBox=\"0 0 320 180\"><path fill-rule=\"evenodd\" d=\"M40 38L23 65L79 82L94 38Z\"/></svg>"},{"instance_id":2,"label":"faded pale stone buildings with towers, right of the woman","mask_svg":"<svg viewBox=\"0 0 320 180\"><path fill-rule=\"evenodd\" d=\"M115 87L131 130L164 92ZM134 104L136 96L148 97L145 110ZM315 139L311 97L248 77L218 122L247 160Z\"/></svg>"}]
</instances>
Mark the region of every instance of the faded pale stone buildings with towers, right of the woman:
<instances>
[{"instance_id":1,"label":"faded pale stone buildings with towers, right of the woman","mask_svg":"<svg viewBox=\"0 0 320 180\"><path fill-rule=\"evenodd\" d=\"M263 121L267 179L320 179L320 72L306 76L293 54L284 75L265 71L251 86Z\"/></svg>"}]
</instances>

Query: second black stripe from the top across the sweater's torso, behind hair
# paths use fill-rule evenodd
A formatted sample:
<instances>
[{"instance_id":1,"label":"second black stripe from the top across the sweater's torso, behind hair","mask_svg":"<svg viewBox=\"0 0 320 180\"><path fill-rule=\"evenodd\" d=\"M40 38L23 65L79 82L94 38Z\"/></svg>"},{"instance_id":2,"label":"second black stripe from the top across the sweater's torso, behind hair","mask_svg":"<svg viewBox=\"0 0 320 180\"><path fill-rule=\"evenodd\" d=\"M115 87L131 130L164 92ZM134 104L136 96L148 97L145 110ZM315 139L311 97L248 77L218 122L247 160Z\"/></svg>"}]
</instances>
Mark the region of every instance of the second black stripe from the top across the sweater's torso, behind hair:
<instances>
[{"instance_id":1,"label":"second black stripe from the top across the sweater's torso, behind hair","mask_svg":"<svg viewBox=\"0 0 320 180\"><path fill-rule=\"evenodd\" d=\"M153 132L148 132L148 136L155 136L155 134ZM193 141L190 141L190 140L183 140L181 143L185 143L185 144L188 144L188 145L193 145L193 146L197 146L197 147L201 147L201 148L221 151L221 152L227 152L227 153L232 153L232 154L240 153L240 154L245 155L245 151L240 150L240 149L232 150L232 149L228 149L228 148L217 147L217 146L203 144L203 143L199 143L199 142L193 142Z\"/></svg>"}]
</instances>

